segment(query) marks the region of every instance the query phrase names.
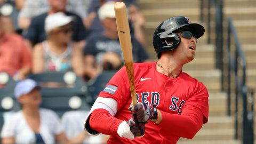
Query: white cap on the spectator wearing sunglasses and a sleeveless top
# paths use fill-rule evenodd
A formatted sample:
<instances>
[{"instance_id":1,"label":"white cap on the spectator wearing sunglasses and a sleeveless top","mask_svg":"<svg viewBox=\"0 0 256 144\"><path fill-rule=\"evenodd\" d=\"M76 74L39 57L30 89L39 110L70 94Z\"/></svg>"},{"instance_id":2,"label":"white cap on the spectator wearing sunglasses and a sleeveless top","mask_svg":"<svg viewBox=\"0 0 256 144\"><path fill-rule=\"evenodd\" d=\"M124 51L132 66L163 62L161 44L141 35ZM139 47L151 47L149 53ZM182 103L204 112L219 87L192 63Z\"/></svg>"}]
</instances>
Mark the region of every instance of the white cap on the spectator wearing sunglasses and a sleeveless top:
<instances>
[{"instance_id":1,"label":"white cap on the spectator wearing sunglasses and a sleeveless top","mask_svg":"<svg viewBox=\"0 0 256 144\"><path fill-rule=\"evenodd\" d=\"M45 26L44 26L45 32L49 33L51 30L61 26L65 26L73 20L74 20L73 17L67 16L63 12L49 14L45 19Z\"/></svg>"}]
</instances>

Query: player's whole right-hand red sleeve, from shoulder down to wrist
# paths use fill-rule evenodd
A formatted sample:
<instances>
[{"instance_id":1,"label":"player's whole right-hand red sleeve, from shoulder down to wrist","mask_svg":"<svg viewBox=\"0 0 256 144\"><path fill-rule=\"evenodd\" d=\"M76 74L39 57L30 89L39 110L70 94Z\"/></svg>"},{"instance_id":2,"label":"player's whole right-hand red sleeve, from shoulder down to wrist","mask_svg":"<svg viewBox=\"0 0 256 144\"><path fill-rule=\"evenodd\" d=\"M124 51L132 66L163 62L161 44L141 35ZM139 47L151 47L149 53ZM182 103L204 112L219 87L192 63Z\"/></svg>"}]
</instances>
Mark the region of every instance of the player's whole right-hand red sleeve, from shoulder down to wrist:
<instances>
[{"instance_id":1,"label":"player's whole right-hand red sleeve, from shoulder down to wrist","mask_svg":"<svg viewBox=\"0 0 256 144\"><path fill-rule=\"evenodd\" d=\"M162 112L161 134L168 138L168 135L191 139L202 128L208 119L208 97L206 87L198 82L194 94L186 101L182 108L181 115Z\"/></svg>"}]
</instances>

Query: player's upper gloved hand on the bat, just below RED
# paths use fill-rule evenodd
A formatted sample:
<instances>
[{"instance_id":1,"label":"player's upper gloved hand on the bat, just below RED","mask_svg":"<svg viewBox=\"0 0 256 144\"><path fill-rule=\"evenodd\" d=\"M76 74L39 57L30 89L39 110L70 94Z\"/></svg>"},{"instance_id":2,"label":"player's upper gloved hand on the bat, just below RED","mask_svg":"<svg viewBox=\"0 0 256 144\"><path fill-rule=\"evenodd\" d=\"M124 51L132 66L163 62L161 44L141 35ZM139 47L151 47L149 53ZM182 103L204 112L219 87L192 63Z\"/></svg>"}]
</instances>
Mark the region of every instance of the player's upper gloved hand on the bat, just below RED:
<instances>
[{"instance_id":1,"label":"player's upper gloved hand on the bat, just below RED","mask_svg":"<svg viewBox=\"0 0 256 144\"><path fill-rule=\"evenodd\" d=\"M156 106L149 107L146 103L137 103L136 106L129 108L132 118L135 122L147 122L148 120L154 121L157 118Z\"/></svg>"}]
</instances>

